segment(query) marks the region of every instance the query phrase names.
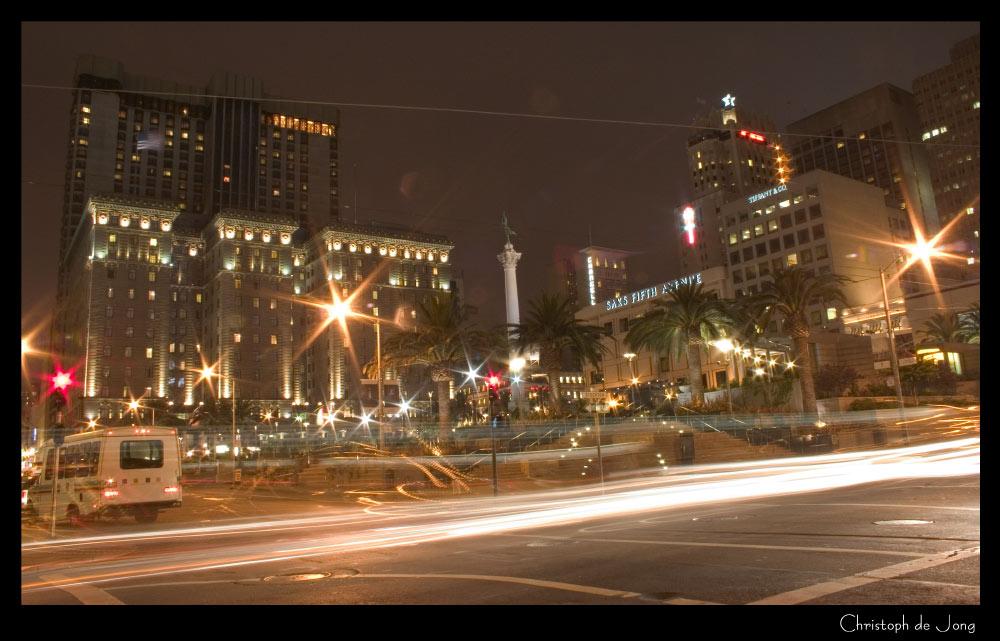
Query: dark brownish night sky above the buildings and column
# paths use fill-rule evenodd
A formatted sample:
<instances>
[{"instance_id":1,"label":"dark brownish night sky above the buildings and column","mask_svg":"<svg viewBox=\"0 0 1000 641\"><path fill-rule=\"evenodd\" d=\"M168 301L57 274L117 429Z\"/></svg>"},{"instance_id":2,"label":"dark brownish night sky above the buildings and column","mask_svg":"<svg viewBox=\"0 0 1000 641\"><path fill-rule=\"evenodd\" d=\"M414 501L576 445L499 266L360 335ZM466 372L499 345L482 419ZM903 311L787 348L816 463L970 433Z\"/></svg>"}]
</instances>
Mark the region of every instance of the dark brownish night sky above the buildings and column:
<instances>
[{"instance_id":1,"label":"dark brownish night sky above the buildings and column","mask_svg":"<svg viewBox=\"0 0 1000 641\"><path fill-rule=\"evenodd\" d=\"M554 259L591 237L636 252L636 286L679 275L672 211L690 197L685 140L695 116L732 93L781 130L880 82L909 91L979 29L971 22L22 23L22 332L40 326L55 300L71 105L67 90L25 85L68 89L81 53L196 87L213 71L231 71L259 78L282 98L371 105L341 107L342 218L446 234L468 303L493 325L504 322L496 259L503 212L523 253L522 315L528 299L554 288Z\"/></svg>"}]
</instances>

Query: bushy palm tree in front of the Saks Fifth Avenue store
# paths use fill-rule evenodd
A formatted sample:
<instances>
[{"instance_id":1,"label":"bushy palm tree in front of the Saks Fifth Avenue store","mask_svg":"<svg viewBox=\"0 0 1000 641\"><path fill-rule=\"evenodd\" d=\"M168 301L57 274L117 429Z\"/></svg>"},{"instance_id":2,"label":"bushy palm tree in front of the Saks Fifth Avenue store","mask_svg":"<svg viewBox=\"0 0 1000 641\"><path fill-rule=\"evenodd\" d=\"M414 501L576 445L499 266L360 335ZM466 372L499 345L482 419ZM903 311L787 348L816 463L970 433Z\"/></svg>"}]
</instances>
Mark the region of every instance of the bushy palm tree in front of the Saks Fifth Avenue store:
<instances>
[{"instance_id":1,"label":"bushy palm tree in front of the Saks Fifth Avenue store","mask_svg":"<svg viewBox=\"0 0 1000 641\"><path fill-rule=\"evenodd\" d=\"M670 292L669 300L658 300L656 307L640 318L625 336L628 346L643 348L657 354L682 352L687 355L691 398L705 401L705 386L701 381L701 351L713 340L721 338L734 322L725 301L710 297L702 285L682 284Z\"/></svg>"}]
</instances>

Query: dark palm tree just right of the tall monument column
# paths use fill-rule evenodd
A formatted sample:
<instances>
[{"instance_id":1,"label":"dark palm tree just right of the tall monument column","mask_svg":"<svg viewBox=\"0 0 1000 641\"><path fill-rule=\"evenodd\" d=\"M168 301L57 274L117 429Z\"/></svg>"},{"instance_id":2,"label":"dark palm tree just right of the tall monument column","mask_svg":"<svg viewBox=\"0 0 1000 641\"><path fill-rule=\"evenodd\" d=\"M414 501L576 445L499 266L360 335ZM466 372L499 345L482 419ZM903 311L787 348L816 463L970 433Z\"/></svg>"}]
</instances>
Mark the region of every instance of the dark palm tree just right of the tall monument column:
<instances>
[{"instance_id":1,"label":"dark palm tree just right of the tall monument column","mask_svg":"<svg viewBox=\"0 0 1000 641\"><path fill-rule=\"evenodd\" d=\"M569 299L558 294L543 293L530 301L526 318L510 325L509 330L516 349L538 348L538 365L549 377L549 396L557 415L562 413L559 370L563 349L569 349L573 358L585 360L595 368L599 367L601 354L607 351L600 341L604 330L577 320Z\"/></svg>"}]
</instances>

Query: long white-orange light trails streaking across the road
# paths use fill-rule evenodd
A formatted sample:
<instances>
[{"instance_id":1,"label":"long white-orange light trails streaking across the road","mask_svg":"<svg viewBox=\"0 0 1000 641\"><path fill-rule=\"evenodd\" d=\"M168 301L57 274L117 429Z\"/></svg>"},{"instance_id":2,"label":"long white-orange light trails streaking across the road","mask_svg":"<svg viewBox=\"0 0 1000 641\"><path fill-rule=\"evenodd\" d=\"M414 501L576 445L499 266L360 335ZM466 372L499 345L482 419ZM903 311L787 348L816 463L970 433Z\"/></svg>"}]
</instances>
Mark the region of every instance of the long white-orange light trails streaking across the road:
<instances>
[{"instance_id":1,"label":"long white-orange light trails streaking across the road","mask_svg":"<svg viewBox=\"0 0 1000 641\"><path fill-rule=\"evenodd\" d=\"M344 551L414 545L680 506L816 492L878 481L978 474L979 438L909 448L852 452L747 464L690 466L680 473L600 486L536 492L502 499L475 498L408 505L382 505L363 513L282 518L160 532L92 536L24 543L22 556L120 543L142 543L131 558L87 563L47 563L22 571L22 591L96 584L139 577L286 561ZM299 538L277 545L276 534ZM304 536L303 536L304 535ZM250 540L238 540L239 537ZM263 540L261 540L263 539ZM179 540L204 548L170 550ZM43 575L58 572L56 580Z\"/></svg>"}]
</instances>

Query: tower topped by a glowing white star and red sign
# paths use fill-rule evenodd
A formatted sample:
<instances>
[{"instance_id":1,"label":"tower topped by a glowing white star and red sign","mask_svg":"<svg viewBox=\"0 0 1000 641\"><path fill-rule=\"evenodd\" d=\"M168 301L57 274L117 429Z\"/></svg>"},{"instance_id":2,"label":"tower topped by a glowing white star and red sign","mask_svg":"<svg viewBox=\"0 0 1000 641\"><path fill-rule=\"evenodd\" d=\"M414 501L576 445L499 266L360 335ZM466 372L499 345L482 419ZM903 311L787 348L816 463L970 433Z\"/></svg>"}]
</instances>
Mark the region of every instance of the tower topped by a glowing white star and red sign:
<instances>
[{"instance_id":1,"label":"tower topped by a glowing white star and red sign","mask_svg":"<svg viewBox=\"0 0 1000 641\"><path fill-rule=\"evenodd\" d=\"M720 212L733 199L779 184L774 123L736 106L726 95L720 109L695 120L688 139L693 199L674 209L680 229L681 271L725 265Z\"/></svg>"}]
</instances>

